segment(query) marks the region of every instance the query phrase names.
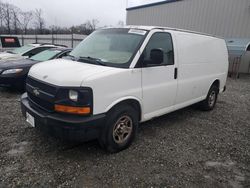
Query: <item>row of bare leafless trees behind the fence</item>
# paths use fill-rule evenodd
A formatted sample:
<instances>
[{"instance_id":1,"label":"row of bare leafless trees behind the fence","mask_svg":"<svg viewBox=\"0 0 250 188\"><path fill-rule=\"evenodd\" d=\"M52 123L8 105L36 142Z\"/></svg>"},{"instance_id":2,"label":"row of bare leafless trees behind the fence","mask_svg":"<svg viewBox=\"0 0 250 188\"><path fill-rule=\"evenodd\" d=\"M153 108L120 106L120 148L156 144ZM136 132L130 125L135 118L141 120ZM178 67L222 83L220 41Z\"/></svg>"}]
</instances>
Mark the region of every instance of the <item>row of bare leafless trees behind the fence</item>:
<instances>
[{"instance_id":1,"label":"row of bare leafless trees behind the fence","mask_svg":"<svg viewBox=\"0 0 250 188\"><path fill-rule=\"evenodd\" d=\"M93 32L99 21L88 20L72 27L46 27L42 9L22 11L19 7L0 0L0 34L85 34ZM123 25L122 21L118 25Z\"/></svg>"}]
</instances>

